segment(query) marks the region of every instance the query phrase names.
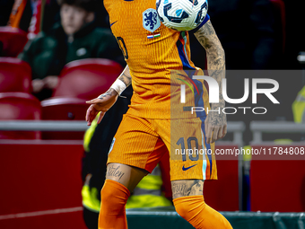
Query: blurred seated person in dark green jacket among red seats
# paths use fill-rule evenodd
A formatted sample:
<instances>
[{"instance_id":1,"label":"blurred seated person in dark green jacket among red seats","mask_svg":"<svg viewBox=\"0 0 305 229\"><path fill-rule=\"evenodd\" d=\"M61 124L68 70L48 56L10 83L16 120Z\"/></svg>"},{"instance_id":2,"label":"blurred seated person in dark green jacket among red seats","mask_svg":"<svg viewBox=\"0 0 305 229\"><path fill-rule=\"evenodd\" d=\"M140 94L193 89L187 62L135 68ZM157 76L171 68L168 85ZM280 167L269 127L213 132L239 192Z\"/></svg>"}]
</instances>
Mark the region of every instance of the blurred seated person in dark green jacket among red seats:
<instances>
[{"instance_id":1,"label":"blurred seated person in dark green jacket among red seats","mask_svg":"<svg viewBox=\"0 0 305 229\"><path fill-rule=\"evenodd\" d=\"M117 40L95 23L97 0L61 0L60 23L29 41L22 54L32 70L33 94L39 100L52 95L66 63L83 58L108 58L125 65Z\"/></svg>"}]
</instances>

